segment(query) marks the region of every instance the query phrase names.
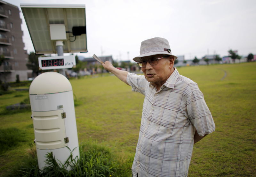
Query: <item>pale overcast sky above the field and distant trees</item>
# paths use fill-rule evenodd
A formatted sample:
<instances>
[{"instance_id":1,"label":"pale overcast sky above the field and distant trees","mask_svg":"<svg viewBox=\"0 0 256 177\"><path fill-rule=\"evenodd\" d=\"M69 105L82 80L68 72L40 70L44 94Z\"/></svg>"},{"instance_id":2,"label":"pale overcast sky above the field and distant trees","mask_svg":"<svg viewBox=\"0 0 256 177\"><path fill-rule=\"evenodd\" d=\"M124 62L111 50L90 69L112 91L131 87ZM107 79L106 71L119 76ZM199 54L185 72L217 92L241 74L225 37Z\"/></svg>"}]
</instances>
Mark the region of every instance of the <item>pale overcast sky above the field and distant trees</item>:
<instances>
[{"instance_id":1,"label":"pale overcast sky above the field and distant trees","mask_svg":"<svg viewBox=\"0 0 256 177\"><path fill-rule=\"evenodd\" d=\"M172 54L185 59L204 55L256 54L256 0L5 0L20 4L85 4L87 53L131 60L140 55L140 43L166 38ZM34 51L22 19L23 41Z\"/></svg>"}]
</instances>

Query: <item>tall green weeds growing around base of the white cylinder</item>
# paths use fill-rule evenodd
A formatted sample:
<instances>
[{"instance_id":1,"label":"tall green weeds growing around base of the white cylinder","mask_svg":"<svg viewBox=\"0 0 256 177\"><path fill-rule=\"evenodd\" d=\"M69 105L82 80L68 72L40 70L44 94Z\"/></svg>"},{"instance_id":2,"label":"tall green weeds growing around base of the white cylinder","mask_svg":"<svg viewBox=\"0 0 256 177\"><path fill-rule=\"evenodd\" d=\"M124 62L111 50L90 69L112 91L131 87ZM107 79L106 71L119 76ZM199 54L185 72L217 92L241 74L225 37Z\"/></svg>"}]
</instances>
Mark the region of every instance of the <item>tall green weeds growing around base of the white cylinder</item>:
<instances>
[{"instance_id":1,"label":"tall green weeds growing around base of the white cylinder","mask_svg":"<svg viewBox=\"0 0 256 177\"><path fill-rule=\"evenodd\" d=\"M42 170L39 169L36 150L31 148L28 156L17 163L6 176L25 177L58 177L58 176L117 176L115 175L117 163L113 161L110 151L97 144L86 143L80 146L80 158L73 157L72 151L67 161L62 164L55 159L52 152L46 154L46 164Z\"/></svg>"}]
</instances>

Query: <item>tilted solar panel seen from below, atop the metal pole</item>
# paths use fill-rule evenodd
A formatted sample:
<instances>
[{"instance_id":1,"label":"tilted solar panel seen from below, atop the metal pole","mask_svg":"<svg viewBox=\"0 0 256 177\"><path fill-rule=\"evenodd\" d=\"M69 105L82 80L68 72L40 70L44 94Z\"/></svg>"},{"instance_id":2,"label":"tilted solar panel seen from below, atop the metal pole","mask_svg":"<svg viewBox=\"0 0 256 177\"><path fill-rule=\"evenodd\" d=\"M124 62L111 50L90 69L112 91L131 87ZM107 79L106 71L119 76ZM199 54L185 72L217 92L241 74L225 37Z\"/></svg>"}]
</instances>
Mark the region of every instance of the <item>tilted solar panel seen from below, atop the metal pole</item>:
<instances>
[{"instance_id":1,"label":"tilted solar panel seen from below, atop the metal pole","mask_svg":"<svg viewBox=\"0 0 256 177\"><path fill-rule=\"evenodd\" d=\"M36 54L57 53L56 40L51 40L50 24L64 24L64 53L87 52L85 5L20 4ZM84 32L73 36L72 28L82 26Z\"/></svg>"}]
</instances>

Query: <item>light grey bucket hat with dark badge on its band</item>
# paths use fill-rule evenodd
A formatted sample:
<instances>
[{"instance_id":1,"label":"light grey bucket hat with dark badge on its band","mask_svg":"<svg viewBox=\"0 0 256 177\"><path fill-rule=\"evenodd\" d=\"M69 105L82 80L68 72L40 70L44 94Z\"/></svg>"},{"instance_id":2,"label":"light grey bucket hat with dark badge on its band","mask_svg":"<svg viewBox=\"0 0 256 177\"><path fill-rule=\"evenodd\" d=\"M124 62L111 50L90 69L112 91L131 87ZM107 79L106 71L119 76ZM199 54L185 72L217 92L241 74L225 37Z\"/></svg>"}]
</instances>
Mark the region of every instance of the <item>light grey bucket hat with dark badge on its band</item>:
<instances>
[{"instance_id":1,"label":"light grey bucket hat with dark badge on its band","mask_svg":"<svg viewBox=\"0 0 256 177\"><path fill-rule=\"evenodd\" d=\"M174 59L178 58L177 56L172 55L172 50L170 48L169 42L166 39L155 37L142 41L140 44L140 55L133 58L132 60L135 62L140 62L141 57L143 56L151 56L157 54L171 55L174 56Z\"/></svg>"}]
</instances>

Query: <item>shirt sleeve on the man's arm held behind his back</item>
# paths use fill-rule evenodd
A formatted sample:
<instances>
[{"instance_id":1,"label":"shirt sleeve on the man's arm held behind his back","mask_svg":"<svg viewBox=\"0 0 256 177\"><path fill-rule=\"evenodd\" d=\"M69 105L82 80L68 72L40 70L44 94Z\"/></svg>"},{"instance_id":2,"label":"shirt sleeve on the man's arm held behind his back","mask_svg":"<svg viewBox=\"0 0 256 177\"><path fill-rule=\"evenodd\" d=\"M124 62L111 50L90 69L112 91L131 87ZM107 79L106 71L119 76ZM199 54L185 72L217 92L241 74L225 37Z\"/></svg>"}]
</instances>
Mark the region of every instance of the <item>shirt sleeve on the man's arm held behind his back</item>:
<instances>
[{"instance_id":1,"label":"shirt sleeve on the man's arm held behind his back","mask_svg":"<svg viewBox=\"0 0 256 177\"><path fill-rule=\"evenodd\" d=\"M215 124L212 114L205 103L204 95L196 83L191 84L190 88L191 93L187 99L188 118L196 128L199 136L212 133L215 130Z\"/></svg>"}]
</instances>

